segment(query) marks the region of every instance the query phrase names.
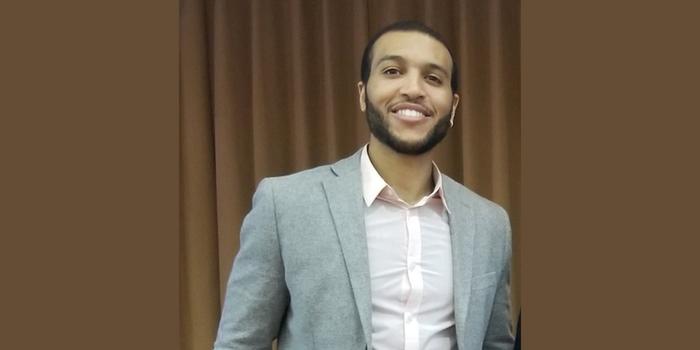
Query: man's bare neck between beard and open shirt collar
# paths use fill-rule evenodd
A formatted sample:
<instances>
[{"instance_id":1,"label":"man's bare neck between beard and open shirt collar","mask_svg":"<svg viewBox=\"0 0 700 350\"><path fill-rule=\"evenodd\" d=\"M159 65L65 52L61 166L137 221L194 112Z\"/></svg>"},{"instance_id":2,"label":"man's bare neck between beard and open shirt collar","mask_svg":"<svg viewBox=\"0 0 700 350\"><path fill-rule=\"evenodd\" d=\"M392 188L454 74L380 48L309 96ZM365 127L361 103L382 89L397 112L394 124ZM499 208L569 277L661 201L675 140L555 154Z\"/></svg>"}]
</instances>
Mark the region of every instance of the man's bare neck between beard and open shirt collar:
<instances>
[{"instance_id":1,"label":"man's bare neck between beard and open shirt collar","mask_svg":"<svg viewBox=\"0 0 700 350\"><path fill-rule=\"evenodd\" d=\"M404 202L416 203L432 192L432 150L421 155L401 154L371 136L367 152L379 175Z\"/></svg>"}]
</instances>

